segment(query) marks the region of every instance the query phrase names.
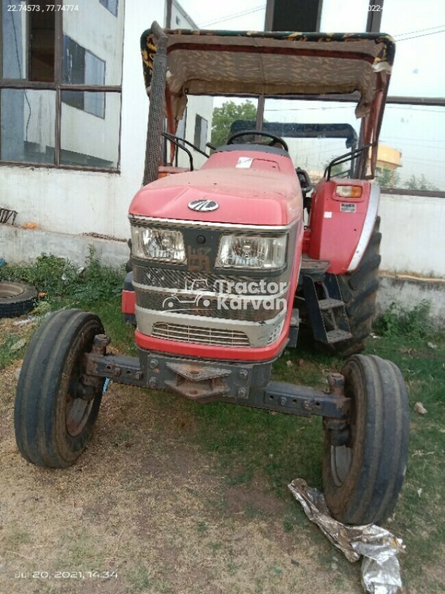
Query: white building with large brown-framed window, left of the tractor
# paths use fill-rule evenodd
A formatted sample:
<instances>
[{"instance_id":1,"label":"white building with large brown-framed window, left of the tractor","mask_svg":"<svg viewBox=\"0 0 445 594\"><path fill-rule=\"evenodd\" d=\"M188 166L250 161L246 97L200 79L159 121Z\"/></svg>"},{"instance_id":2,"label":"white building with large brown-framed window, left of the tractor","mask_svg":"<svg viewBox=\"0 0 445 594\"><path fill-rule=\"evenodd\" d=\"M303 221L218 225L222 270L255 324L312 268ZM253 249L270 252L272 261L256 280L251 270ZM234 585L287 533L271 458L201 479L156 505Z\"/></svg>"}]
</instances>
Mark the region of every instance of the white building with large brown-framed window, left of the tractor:
<instances>
[{"instance_id":1,"label":"white building with large brown-framed window, left of the tractor","mask_svg":"<svg viewBox=\"0 0 445 594\"><path fill-rule=\"evenodd\" d=\"M14 227L0 225L0 253L10 262L42 251L79 261L91 238L73 235L129 237L149 110L140 36L153 21L166 25L167 3L76 0L73 10L52 12L39 0L41 10L30 13L20 0L0 3L0 208L18 212ZM176 0L171 23L196 27ZM181 125L187 140L205 147L212 108L211 97L189 100ZM187 166L184 155L179 164ZM194 156L200 166L204 158ZM21 228L29 222L38 230Z\"/></svg>"}]
</instances>

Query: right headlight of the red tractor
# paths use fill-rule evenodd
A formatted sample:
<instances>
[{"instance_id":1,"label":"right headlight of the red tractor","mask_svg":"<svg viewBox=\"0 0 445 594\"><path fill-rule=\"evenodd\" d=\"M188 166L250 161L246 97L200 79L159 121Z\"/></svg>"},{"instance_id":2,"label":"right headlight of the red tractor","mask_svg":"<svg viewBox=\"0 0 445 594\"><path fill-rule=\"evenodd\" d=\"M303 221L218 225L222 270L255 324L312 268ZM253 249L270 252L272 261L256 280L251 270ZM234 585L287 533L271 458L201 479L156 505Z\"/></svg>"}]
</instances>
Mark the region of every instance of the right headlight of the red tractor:
<instances>
[{"instance_id":1,"label":"right headlight of the red tractor","mask_svg":"<svg viewBox=\"0 0 445 594\"><path fill-rule=\"evenodd\" d=\"M225 235L221 238L217 267L274 270L285 262L287 236Z\"/></svg>"}]
</instances>

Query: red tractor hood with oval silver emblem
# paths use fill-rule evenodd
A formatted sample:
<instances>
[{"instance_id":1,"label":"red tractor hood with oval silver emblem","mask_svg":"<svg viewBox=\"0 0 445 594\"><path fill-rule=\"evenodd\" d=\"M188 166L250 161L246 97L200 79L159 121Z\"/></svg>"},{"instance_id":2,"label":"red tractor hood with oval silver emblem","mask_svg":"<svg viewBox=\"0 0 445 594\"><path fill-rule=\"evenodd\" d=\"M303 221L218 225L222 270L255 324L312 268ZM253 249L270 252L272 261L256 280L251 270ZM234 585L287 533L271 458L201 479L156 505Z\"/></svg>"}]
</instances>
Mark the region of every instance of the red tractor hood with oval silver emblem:
<instances>
[{"instance_id":1,"label":"red tractor hood with oval silver emblem","mask_svg":"<svg viewBox=\"0 0 445 594\"><path fill-rule=\"evenodd\" d=\"M301 187L284 151L234 148L221 147L199 171L169 175L144 186L131 202L130 216L274 226L301 219Z\"/></svg>"}]
</instances>

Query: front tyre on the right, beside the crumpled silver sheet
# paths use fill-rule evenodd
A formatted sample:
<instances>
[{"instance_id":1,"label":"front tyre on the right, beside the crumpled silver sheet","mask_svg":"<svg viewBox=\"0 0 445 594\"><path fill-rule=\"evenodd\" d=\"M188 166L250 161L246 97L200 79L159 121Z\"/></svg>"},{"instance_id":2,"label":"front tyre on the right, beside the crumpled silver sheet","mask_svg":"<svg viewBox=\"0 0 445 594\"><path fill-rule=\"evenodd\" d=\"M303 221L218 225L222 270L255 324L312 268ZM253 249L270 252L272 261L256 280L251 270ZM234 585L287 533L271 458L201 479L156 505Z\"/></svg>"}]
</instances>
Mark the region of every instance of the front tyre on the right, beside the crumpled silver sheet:
<instances>
[{"instance_id":1,"label":"front tyre on the right, beside the crumpled silver sheet","mask_svg":"<svg viewBox=\"0 0 445 594\"><path fill-rule=\"evenodd\" d=\"M351 398L348 441L325 432L323 486L329 510L346 524L382 523L392 514L407 464L409 408L400 369L355 355L342 369Z\"/></svg>"}]
</instances>

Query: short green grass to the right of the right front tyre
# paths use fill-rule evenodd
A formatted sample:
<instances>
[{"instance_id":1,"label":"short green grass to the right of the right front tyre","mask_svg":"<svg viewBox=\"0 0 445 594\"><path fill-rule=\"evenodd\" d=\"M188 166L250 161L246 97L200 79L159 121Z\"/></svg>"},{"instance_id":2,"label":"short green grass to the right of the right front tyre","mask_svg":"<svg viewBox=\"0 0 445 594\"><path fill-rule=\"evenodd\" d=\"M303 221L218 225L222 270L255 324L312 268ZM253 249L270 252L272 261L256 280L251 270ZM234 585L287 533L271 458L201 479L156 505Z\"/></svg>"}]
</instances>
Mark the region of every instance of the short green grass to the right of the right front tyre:
<instances>
[{"instance_id":1,"label":"short green grass to the right of the right front tyre","mask_svg":"<svg viewBox=\"0 0 445 594\"><path fill-rule=\"evenodd\" d=\"M428 343L437 349L431 349ZM388 336L374 341L368 350L394 361L409 387L410 455L390 530L405 539L407 554L403 564L406 571L415 573L443 555L445 336L411 338L409 342L404 336ZM427 414L414 412L417 401L422 401Z\"/></svg>"}]
</instances>

